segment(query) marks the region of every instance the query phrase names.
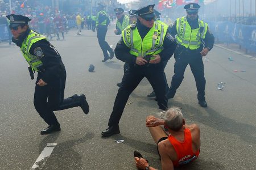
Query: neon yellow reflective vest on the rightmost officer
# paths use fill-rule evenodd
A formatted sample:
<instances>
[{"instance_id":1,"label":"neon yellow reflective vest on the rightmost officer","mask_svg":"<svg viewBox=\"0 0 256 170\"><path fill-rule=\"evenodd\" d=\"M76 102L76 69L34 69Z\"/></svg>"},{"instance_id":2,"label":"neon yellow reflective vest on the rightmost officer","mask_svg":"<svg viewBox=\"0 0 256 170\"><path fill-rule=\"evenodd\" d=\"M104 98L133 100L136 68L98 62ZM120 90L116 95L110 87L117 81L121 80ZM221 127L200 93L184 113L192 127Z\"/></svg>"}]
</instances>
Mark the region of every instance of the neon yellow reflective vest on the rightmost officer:
<instances>
[{"instance_id":1,"label":"neon yellow reflective vest on the rightmost officer","mask_svg":"<svg viewBox=\"0 0 256 170\"><path fill-rule=\"evenodd\" d=\"M178 44L183 45L186 48L189 48L192 50L200 47L201 39L204 39L207 33L208 24L201 20L198 20L198 22L199 22L199 28L191 29L185 16L177 19L176 41ZM201 33L200 33L200 27L204 28Z\"/></svg>"}]
</instances>

